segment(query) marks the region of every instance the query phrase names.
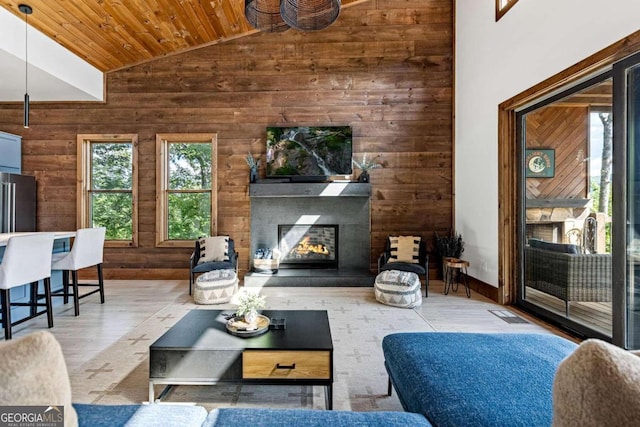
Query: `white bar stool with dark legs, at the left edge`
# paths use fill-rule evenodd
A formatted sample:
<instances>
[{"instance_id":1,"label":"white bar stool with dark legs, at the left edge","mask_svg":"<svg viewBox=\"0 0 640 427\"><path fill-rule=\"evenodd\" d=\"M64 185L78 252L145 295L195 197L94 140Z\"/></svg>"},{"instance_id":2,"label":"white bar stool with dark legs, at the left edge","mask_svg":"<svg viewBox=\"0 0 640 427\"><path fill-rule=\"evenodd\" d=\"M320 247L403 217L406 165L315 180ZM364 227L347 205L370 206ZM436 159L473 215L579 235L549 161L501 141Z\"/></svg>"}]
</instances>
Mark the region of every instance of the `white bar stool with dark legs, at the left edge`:
<instances>
[{"instance_id":1,"label":"white bar stool with dark legs, at the left edge","mask_svg":"<svg viewBox=\"0 0 640 427\"><path fill-rule=\"evenodd\" d=\"M2 327L4 339L12 337L12 326L18 325L36 316L47 313L47 323L53 327L53 307L51 305L51 252L54 233L34 233L10 237L0 263L0 300L2 302ZM37 293L38 282L44 281L44 303L38 303L33 294ZM11 289L31 284L32 299L28 303L11 303ZM35 291L33 289L35 288ZM11 306L29 306L29 316L17 322L11 322ZM44 306L44 311L37 307Z\"/></svg>"}]
</instances>

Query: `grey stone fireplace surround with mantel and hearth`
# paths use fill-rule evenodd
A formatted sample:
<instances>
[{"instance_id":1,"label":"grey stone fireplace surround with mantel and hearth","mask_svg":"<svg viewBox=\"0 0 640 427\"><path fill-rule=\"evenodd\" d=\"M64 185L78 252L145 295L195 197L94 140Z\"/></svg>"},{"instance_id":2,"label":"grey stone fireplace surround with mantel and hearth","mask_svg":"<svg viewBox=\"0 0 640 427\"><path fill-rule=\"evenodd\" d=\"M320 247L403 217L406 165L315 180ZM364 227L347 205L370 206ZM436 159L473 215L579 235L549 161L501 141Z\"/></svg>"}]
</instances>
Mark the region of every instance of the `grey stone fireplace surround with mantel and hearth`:
<instances>
[{"instance_id":1,"label":"grey stone fireplace surround with mantel and hearth","mask_svg":"<svg viewBox=\"0 0 640 427\"><path fill-rule=\"evenodd\" d=\"M278 247L279 224L337 224L337 269L280 269L247 273L245 286L371 286L369 183L270 182L250 184L251 251Z\"/></svg>"}]
</instances>

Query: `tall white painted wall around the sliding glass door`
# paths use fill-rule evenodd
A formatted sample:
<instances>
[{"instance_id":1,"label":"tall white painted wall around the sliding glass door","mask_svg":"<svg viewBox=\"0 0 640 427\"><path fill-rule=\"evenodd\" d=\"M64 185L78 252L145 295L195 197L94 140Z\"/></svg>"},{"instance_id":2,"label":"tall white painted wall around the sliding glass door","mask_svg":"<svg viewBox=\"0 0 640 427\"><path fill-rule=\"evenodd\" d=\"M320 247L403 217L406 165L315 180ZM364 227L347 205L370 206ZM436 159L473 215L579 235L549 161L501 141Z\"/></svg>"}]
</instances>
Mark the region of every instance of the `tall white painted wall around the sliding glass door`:
<instances>
[{"instance_id":1,"label":"tall white painted wall around the sliding glass door","mask_svg":"<svg viewBox=\"0 0 640 427\"><path fill-rule=\"evenodd\" d=\"M456 230L469 274L498 286L498 105L640 30L638 0L456 0Z\"/></svg>"}]
</instances>

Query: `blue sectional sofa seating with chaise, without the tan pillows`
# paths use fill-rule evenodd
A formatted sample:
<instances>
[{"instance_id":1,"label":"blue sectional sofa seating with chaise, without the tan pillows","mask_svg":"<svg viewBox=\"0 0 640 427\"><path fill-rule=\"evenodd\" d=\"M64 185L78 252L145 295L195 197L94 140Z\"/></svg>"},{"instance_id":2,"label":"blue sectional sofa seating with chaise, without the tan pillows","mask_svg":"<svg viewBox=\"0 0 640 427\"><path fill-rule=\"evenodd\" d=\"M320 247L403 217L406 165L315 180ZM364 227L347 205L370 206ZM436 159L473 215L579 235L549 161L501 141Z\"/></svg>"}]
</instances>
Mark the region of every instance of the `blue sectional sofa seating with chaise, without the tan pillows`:
<instances>
[{"instance_id":1,"label":"blue sectional sofa seating with chaise, without the tan pillows","mask_svg":"<svg viewBox=\"0 0 640 427\"><path fill-rule=\"evenodd\" d=\"M198 406L74 407L80 426L548 427L554 375L576 348L549 334L387 335L382 349L389 390L393 385L407 412L224 408L207 414Z\"/></svg>"}]
</instances>

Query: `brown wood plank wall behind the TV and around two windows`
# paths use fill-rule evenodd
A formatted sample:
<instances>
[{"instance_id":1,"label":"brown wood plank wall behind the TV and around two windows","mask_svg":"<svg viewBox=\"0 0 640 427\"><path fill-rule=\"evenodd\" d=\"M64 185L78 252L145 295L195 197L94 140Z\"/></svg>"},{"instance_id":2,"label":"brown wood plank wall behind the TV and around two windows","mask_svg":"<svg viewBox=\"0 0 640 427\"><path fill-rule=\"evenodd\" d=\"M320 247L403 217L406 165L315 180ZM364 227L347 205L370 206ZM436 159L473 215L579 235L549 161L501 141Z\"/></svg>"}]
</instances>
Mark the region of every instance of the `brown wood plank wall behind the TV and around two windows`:
<instances>
[{"instance_id":1,"label":"brown wood plank wall behind the TV and around two windows","mask_svg":"<svg viewBox=\"0 0 640 427\"><path fill-rule=\"evenodd\" d=\"M155 245L156 133L218 133L219 233L249 267L248 151L267 125L353 126L354 155L380 154L371 173L371 265L389 234L452 224L453 5L371 0L330 28L255 34L107 75L107 102L0 104L0 130L23 136L23 171L38 178L38 228L75 229L76 135L139 135L137 248L107 248L108 278L187 278L187 248ZM261 171L264 176L264 171ZM435 263L432 263L435 274Z\"/></svg>"}]
</instances>

